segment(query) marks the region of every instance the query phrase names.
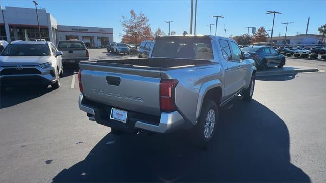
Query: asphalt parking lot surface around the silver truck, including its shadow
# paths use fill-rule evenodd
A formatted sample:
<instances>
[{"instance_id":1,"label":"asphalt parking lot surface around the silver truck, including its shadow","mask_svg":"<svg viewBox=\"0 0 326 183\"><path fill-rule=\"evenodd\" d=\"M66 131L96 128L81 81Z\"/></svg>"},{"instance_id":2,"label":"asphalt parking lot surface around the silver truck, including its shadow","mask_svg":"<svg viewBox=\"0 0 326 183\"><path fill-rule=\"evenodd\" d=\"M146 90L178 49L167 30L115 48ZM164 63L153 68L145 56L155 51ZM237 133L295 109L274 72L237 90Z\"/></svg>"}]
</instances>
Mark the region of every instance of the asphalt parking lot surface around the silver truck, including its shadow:
<instances>
[{"instance_id":1,"label":"asphalt parking lot surface around the silver truck, including its shadow","mask_svg":"<svg viewBox=\"0 0 326 183\"><path fill-rule=\"evenodd\" d=\"M0 182L326 182L326 72L256 78L253 100L222 110L212 145L198 149L186 132L115 136L89 121L78 107L77 70L68 66L57 90L1 94Z\"/></svg>"}]
</instances>

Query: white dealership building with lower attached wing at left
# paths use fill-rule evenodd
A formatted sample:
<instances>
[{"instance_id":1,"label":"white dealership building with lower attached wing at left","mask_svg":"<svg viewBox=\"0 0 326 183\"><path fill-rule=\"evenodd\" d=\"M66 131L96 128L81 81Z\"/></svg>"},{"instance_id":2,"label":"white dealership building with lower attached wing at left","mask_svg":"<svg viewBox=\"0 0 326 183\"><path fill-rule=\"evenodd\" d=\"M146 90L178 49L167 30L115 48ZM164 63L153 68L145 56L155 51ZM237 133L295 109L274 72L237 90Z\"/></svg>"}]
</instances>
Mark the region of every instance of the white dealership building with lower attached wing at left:
<instances>
[{"instance_id":1,"label":"white dealership building with lower attached wing at left","mask_svg":"<svg viewBox=\"0 0 326 183\"><path fill-rule=\"evenodd\" d=\"M33 8L0 6L0 40L40 39L36 10ZM112 28L59 25L45 9L37 9L41 39L58 43L60 40L82 40L90 47L106 46L113 42Z\"/></svg>"}]
</instances>

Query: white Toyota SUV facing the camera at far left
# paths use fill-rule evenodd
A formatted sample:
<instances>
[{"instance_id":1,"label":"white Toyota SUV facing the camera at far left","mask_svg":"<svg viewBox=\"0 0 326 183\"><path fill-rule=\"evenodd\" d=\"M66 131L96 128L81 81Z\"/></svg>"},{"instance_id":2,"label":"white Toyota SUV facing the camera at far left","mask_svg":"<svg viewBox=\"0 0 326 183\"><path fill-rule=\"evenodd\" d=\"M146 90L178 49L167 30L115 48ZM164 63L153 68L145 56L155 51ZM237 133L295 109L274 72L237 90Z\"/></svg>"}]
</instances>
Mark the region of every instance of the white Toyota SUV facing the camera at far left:
<instances>
[{"instance_id":1,"label":"white Toyota SUV facing the camera at far left","mask_svg":"<svg viewBox=\"0 0 326 183\"><path fill-rule=\"evenodd\" d=\"M0 55L0 86L60 87L62 52L48 41L12 41Z\"/></svg>"}]
</instances>

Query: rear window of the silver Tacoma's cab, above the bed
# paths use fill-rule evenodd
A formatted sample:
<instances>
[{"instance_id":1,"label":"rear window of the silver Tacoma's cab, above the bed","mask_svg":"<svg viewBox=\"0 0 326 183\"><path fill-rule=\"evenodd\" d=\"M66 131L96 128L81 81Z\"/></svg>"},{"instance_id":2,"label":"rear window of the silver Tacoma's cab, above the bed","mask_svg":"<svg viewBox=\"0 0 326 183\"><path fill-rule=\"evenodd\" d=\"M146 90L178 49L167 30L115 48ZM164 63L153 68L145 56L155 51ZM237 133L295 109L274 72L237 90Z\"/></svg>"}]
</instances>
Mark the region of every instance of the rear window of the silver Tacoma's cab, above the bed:
<instances>
[{"instance_id":1,"label":"rear window of the silver Tacoma's cab, above the bed","mask_svg":"<svg viewBox=\"0 0 326 183\"><path fill-rule=\"evenodd\" d=\"M214 59L211 40L207 37L168 37L157 39L152 56Z\"/></svg>"}]
</instances>

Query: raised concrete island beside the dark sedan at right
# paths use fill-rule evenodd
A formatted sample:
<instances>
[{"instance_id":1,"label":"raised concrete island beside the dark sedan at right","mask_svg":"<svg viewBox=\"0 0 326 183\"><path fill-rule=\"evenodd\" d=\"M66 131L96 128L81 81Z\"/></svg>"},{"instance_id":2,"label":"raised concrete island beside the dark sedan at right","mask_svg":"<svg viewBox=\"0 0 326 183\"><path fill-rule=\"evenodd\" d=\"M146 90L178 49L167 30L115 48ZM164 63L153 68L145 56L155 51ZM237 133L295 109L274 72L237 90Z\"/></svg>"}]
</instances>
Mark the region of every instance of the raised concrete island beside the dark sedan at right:
<instances>
[{"instance_id":1,"label":"raised concrete island beside the dark sedan at right","mask_svg":"<svg viewBox=\"0 0 326 183\"><path fill-rule=\"evenodd\" d=\"M282 69L278 67L270 67L264 71L257 71L256 77L259 76L273 76L284 74L297 74L302 72L318 72L317 68L305 67L305 66L284 66Z\"/></svg>"}]
</instances>

